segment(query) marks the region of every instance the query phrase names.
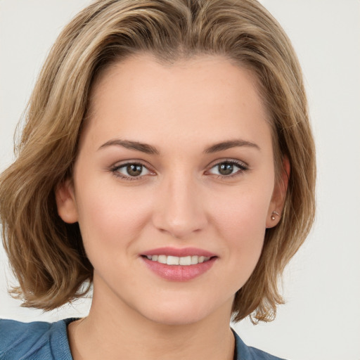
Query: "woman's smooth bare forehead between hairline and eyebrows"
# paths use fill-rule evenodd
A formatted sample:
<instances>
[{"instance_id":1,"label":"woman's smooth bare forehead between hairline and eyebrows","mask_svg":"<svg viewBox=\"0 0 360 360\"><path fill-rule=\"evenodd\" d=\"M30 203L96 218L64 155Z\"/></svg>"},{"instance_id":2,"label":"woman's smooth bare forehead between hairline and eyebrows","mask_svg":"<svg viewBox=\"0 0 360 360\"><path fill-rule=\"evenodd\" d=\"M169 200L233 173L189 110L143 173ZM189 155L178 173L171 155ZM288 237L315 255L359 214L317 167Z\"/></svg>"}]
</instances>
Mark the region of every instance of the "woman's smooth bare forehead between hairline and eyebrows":
<instances>
[{"instance_id":1,"label":"woman's smooth bare forehead between hairline and eyebrows","mask_svg":"<svg viewBox=\"0 0 360 360\"><path fill-rule=\"evenodd\" d=\"M177 131L177 137L198 140L206 129L209 142L233 137L235 129L257 137L269 132L258 89L250 70L222 56L171 64L148 54L131 56L110 65L94 82L86 128L107 136L136 132L146 142L155 128L164 136Z\"/></svg>"}]
</instances>

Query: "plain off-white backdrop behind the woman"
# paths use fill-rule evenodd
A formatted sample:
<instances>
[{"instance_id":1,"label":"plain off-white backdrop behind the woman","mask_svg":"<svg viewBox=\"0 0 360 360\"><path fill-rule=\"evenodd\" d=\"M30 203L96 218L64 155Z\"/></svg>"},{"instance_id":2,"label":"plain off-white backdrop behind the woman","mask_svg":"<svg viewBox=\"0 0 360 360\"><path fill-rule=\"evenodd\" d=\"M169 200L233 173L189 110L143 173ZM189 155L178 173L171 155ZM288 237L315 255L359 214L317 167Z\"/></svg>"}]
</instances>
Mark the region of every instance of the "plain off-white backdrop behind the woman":
<instances>
[{"instance_id":1,"label":"plain off-white backdrop behind the woman","mask_svg":"<svg viewBox=\"0 0 360 360\"><path fill-rule=\"evenodd\" d=\"M89 0L0 0L0 170L41 63ZM285 271L273 323L234 325L248 345L293 360L360 360L360 1L263 0L304 70L319 167L314 229ZM14 282L0 249L0 317L56 321L86 315L90 299L43 314L6 293Z\"/></svg>"}]
</instances>

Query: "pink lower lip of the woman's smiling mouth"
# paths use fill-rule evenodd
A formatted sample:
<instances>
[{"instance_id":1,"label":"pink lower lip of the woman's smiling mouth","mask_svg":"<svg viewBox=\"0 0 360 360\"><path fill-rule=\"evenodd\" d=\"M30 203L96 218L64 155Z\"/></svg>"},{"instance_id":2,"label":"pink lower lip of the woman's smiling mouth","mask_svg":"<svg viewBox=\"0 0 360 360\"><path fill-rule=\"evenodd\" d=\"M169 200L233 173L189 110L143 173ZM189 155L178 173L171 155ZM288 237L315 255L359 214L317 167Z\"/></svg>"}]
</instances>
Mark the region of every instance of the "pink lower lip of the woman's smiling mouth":
<instances>
[{"instance_id":1,"label":"pink lower lip of the woman's smiling mouth","mask_svg":"<svg viewBox=\"0 0 360 360\"><path fill-rule=\"evenodd\" d=\"M205 274L212 267L217 257L212 257L210 260L200 264L188 266L161 264L160 262L153 262L146 257L141 257L141 259L143 259L151 271L161 278L169 281L189 281Z\"/></svg>"}]
</instances>

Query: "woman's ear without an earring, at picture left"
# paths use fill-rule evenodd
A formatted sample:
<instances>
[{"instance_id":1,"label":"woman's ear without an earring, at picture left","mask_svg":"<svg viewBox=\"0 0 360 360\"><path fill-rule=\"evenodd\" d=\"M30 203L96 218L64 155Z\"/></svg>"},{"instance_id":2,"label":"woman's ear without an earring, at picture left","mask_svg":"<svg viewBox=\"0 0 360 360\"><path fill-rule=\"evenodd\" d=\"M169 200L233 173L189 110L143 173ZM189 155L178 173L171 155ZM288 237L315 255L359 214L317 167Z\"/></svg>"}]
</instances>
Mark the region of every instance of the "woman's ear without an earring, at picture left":
<instances>
[{"instance_id":1,"label":"woman's ear without an earring, at picture left","mask_svg":"<svg viewBox=\"0 0 360 360\"><path fill-rule=\"evenodd\" d=\"M75 201L74 186L72 179L63 181L55 191L58 214L68 224L77 222L77 205Z\"/></svg>"}]
</instances>

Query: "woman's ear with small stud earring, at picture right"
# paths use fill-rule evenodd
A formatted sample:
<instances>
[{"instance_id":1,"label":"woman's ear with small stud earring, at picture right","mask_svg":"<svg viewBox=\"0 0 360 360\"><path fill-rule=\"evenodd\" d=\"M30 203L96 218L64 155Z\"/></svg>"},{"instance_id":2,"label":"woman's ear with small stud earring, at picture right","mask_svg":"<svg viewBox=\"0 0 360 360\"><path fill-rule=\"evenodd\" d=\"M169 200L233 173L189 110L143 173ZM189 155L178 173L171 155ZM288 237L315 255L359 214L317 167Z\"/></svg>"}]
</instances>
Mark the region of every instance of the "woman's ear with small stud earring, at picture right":
<instances>
[{"instance_id":1,"label":"woman's ear with small stud earring, at picture right","mask_svg":"<svg viewBox=\"0 0 360 360\"><path fill-rule=\"evenodd\" d=\"M281 176L276 180L274 192L269 205L268 214L266 217L266 228L272 228L278 224L281 219L281 213L285 205L286 191L288 190L288 183L290 177L290 161L285 156L283 159L283 167Z\"/></svg>"}]
</instances>

